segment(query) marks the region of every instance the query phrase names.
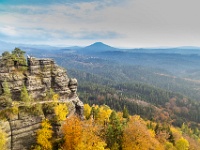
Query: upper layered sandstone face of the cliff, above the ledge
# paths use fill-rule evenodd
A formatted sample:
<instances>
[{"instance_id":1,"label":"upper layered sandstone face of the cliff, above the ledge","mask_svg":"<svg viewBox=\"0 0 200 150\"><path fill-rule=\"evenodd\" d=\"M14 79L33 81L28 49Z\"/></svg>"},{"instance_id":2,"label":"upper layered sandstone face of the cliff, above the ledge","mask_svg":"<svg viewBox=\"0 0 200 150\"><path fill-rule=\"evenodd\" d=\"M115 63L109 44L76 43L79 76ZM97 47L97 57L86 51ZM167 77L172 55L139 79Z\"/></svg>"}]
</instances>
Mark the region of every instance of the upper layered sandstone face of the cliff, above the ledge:
<instances>
[{"instance_id":1,"label":"upper layered sandstone face of the cliff, above the ledge","mask_svg":"<svg viewBox=\"0 0 200 150\"><path fill-rule=\"evenodd\" d=\"M54 60L28 57L27 63L28 69L23 72L19 71L23 69L21 66L16 68L14 63L6 66L4 61L0 61L0 94L3 93L4 81L8 82L14 100L19 100L23 85L33 99L42 99L50 88L60 95L60 100L67 100L76 93L69 88L70 79L66 71L56 65ZM77 86L77 83L74 85Z\"/></svg>"}]
</instances>

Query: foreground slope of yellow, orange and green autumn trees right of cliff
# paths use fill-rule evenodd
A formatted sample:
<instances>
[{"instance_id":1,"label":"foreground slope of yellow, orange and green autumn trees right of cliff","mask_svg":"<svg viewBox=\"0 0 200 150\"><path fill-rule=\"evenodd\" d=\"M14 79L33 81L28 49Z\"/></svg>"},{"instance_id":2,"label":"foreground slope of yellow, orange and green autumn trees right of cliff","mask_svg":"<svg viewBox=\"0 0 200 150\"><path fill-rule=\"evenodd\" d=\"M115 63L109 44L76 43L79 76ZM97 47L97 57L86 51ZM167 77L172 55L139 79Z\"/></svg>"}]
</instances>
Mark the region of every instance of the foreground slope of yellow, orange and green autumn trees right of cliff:
<instances>
[{"instance_id":1,"label":"foreground slope of yellow, orange and green autumn trees right of cliff","mask_svg":"<svg viewBox=\"0 0 200 150\"><path fill-rule=\"evenodd\" d=\"M84 105L86 120L67 118L63 125L64 149L92 150L199 150L199 130L183 124L177 128L139 115L129 115L126 107L116 112L107 105ZM147 142L148 141L148 142Z\"/></svg>"}]
</instances>

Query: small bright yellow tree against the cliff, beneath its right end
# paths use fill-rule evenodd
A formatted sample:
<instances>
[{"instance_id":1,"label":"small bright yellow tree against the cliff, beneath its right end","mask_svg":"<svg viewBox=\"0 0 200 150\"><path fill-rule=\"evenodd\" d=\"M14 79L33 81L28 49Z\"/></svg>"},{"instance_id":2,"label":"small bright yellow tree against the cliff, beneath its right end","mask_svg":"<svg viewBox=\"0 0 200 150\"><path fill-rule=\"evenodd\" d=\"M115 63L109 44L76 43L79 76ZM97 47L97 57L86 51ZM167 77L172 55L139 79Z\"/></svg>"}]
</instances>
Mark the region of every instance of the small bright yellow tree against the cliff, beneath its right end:
<instances>
[{"instance_id":1,"label":"small bright yellow tree against the cliff, beneath its right end","mask_svg":"<svg viewBox=\"0 0 200 150\"><path fill-rule=\"evenodd\" d=\"M56 119L58 121L63 121L66 119L66 116L68 114L68 108L65 103L64 104L59 103L58 105L56 105L54 107L54 111L56 114Z\"/></svg>"}]
</instances>

